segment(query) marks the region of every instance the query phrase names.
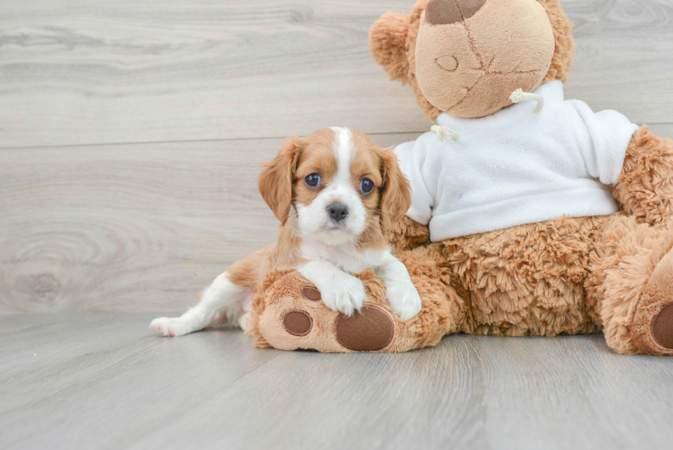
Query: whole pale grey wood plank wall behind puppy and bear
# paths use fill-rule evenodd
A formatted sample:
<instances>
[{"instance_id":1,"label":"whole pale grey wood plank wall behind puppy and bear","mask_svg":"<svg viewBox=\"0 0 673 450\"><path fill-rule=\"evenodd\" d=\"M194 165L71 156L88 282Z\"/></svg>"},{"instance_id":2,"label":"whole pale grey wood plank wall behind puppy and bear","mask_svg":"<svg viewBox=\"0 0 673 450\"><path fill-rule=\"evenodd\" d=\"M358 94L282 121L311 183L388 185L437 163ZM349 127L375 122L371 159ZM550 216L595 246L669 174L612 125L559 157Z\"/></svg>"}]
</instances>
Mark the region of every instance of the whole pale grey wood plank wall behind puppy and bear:
<instances>
[{"instance_id":1,"label":"whole pale grey wood plank wall behind puppy and bear","mask_svg":"<svg viewBox=\"0 0 673 450\"><path fill-rule=\"evenodd\" d=\"M413 0L0 0L0 311L175 311L275 237L290 133L431 123L369 56ZM567 96L673 136L673 2L566 0Z\"/></svg>"}]
</instances>

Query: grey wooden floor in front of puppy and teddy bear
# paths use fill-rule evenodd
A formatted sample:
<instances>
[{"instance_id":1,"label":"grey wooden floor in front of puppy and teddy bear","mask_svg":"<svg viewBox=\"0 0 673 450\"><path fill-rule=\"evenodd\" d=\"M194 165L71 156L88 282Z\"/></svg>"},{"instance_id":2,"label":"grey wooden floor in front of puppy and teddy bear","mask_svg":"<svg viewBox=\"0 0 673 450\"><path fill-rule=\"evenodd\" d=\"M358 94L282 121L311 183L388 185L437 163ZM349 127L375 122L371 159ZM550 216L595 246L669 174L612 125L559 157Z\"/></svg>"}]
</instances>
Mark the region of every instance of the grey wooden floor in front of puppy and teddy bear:
<instances>
[{"instance_id":1,"label":"grey wooden floor in front of puppy and teddy bear","mask_svg":"<svg viewBox=\"0 0 673 450\"><path fill-rule=\"evenodd\" d=\"M670 449L670 359L601 336L403 355L150 334L148 313L0 314L0 449Z\"/></svg>"}]
</instances>

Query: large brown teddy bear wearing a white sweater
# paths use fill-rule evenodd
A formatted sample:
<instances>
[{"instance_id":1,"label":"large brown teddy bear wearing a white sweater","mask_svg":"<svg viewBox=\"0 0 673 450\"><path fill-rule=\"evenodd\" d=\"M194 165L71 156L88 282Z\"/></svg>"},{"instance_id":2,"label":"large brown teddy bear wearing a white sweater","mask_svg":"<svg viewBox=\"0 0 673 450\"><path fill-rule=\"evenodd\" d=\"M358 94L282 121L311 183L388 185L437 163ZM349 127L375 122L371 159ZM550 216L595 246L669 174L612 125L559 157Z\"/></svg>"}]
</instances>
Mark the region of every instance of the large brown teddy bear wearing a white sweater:
<instances>
[{"instance_id":1,"label":"large brown teddy bear wearing a white sweater","mask_svg":"<svg viewBox=\"0 0 673 450\"><path fill-rule=\"evenodd\" d=\"M389 243L422 299L402 321L372 271L347 317L295 271L253 296L255 346L402 352L453 333L602 331L673 355L673 141L566 100L575 52L558 0L418 0L369 47L437 124L395 149L413 191Z\"/></svg>"}]
</instances>

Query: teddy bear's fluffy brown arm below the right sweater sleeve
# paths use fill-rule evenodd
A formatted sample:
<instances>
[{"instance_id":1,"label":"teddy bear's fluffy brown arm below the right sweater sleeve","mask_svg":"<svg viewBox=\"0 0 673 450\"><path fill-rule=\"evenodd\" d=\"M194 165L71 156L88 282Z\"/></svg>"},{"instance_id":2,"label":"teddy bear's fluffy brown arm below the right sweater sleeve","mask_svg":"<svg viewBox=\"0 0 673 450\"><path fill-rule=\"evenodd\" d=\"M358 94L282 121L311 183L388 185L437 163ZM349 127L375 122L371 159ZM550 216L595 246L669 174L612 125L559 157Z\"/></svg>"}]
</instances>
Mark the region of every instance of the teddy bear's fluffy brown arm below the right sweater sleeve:
<instances>
[{"instance_id":1,"label":"teddy bear's fluffy brown arm below the right sweater sleeve","mask_svg":"<svg viewBox=\"0 0 673 450\"><path fill-rule=\"evenodd\" d=\"M673 216L673 140L643 126L626 150L613 196L639 223L665 223Z\"/></svg>"}]
</instances>

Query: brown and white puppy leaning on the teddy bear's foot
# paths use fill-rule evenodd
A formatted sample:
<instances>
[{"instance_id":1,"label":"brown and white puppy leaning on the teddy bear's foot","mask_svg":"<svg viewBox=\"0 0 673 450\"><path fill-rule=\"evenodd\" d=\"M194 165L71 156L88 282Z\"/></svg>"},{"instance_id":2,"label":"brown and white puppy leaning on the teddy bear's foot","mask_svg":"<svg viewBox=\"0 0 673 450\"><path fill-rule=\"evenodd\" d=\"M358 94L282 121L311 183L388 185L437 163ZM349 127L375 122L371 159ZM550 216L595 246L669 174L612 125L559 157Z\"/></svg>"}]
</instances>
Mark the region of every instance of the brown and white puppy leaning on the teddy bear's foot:
<instances>
[{"instance_id":1,"label":"brown and white puppy leaning on the teddy bear's foot","mask_svg":"<svg viewBox=\"0 0 673 450\"><path fill-rule=\"evenodd\" d=\"M277 242L229 267L181 317L152 321L152 330L186 335L223 315L245 329L251 296L272 269L298 270L328 308L352 315L363 306L365 287L350 274L373 268L400 319L418 314L418 291L384 237L411 205L409 183L391 150L349 128L292 137L266 164L259 188L281 222Z\"/></svg>"}]
</instances>

